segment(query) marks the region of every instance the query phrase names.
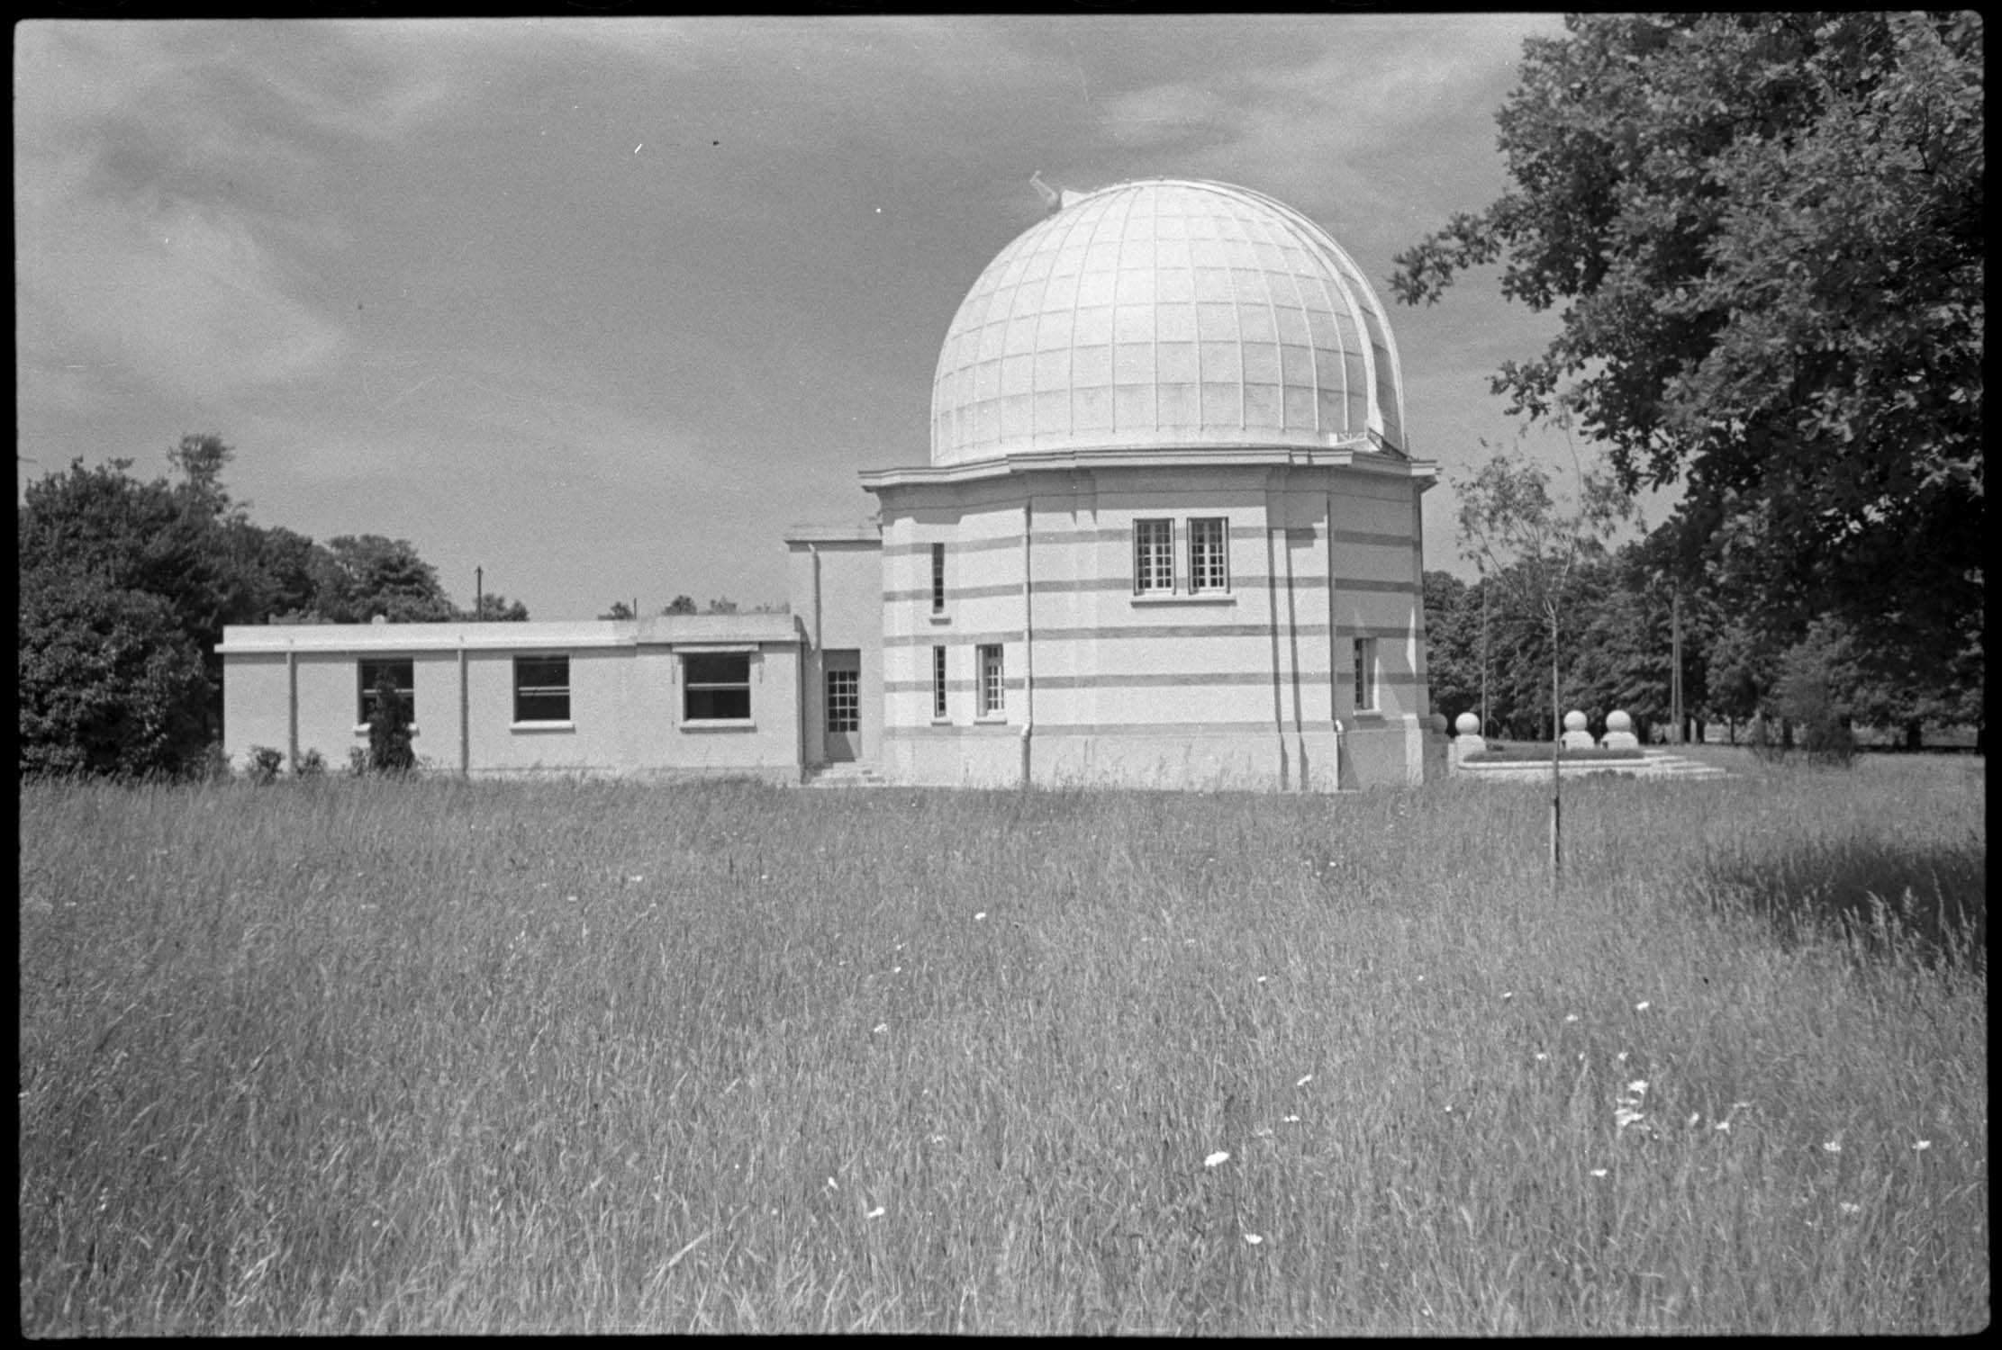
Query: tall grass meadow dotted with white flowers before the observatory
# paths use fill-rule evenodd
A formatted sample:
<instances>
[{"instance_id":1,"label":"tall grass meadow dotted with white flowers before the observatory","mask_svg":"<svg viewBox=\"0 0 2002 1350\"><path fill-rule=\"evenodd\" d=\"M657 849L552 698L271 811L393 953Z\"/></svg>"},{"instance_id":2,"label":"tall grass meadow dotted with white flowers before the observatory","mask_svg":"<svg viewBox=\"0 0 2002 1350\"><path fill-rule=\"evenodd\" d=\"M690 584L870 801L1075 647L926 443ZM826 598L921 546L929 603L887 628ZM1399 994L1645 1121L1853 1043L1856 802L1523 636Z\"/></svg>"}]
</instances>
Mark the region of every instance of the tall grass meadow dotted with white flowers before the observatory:
<instances>
[{"instance_id":1,"label":"tall grass meadow dotted with white flowers before the observatory","mask_svg":"<svg viewBox=\"0 0 2002 1350\"><path fill-rule=\"evenodd\" d=\"M1736 764L1734 764L1736 768ZM1972 1332L1980 760L22 786L28 1334Z\"/></svg>"}]
</instances>

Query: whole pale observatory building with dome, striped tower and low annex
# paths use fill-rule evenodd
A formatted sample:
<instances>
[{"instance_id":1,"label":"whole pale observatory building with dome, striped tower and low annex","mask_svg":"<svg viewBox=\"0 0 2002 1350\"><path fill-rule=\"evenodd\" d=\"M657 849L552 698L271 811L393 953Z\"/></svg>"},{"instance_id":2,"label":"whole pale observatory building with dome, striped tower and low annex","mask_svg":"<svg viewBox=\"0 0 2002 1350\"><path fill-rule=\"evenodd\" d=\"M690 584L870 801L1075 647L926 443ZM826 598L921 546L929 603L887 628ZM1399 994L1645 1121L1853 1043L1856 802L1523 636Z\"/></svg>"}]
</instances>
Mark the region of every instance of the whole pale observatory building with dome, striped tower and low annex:
<instances>
[{"instance_id":1,"label":"whole pale observatory building with dome, striped tower and low annex","mask_svg":"<svg viewBox=\"0 0 2002 1350\"><path fill-rule=\"evenodd\" d=\"M236 626L224 738L328 764L386 668L462 774L1335 790L1443 772L1397 346L1311 220L1065 192L939 354L931 462L795 526L789 614ZM855 766L855 768L843 768Z\"/></svg>"}]
</instances>

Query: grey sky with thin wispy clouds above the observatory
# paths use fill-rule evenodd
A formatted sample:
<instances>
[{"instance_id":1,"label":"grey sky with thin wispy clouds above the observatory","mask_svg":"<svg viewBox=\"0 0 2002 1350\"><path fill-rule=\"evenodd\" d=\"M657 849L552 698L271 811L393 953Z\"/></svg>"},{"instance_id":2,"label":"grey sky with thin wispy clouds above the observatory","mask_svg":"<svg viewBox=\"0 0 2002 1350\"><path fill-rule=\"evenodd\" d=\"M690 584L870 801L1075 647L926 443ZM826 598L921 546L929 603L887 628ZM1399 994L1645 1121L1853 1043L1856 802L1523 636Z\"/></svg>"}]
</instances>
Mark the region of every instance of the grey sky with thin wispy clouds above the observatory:
<instances>
[{"instance_id":1,"label":"grey sky with thin wispy clouds above the observatory","mask_svg":"<svg viewBox=\"0 0 2002 1350\"><path fill-rule=\"evenodd\" d=\"M959 300L1031 174L1211 178L1319 222L1389 306L1411 452L1512 446L1556 318L1393 256L1504 188L1556 16L36 22L14 30L16 500L72 460L236 450L250 516L406 538L470 606L785 598L781 534L929 460ZM1570 448L1526 448L1570 472ZM1660 512L1650 512L1650 522Z\"/></svg>"}]
</instances>

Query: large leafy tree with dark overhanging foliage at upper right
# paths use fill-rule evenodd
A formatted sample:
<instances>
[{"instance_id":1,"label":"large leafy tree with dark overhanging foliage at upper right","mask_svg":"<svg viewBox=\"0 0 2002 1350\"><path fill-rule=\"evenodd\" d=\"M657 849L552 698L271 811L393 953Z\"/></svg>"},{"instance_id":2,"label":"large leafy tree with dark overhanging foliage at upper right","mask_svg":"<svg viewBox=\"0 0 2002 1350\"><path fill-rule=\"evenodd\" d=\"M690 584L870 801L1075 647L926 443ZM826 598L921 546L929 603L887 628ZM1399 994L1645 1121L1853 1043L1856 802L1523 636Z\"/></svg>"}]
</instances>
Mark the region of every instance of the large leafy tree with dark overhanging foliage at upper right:
<instances>
[{"instance_id":1,"label":"large leafy tree with dark overhanging foliage at upper right","mask_svg":"<svg viewBox=\"0 0 2002 1350\"><path fill-rule=\"evenodd\" d=\"M1624 486L1682 482L1686 576L1846 618L1944 686L1982 624L1982 18L1574 16L1526 44L1512 188L1399 254L1399 300L1501 262L1564 302L1493 380ZM1926 540L1912 548L1912 540Z\"/></svg>"}]
</instances>

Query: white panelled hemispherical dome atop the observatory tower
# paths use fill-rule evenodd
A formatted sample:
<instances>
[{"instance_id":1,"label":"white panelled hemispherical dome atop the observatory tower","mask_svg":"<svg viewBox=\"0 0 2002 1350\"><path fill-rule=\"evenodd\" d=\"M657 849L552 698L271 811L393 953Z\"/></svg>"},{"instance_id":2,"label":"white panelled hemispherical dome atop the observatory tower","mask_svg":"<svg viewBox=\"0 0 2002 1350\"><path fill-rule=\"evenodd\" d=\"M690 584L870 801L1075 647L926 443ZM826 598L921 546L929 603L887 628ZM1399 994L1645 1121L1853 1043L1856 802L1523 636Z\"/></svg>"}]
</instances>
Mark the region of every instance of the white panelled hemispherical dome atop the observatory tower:
<instances>
[{"instance_id":1,"label":"white panelled hemispherical dome atop the observatory tower","mask_svg":"<svg viewBox=\"0 0 2002 1350\"><path fill-rule=\"evenodd\" d=\"M931 386L931 462L1117 446L1403 438L1383 306L1299 212L1221 182L1075 198L959 304Z\"/></svg>"}]
</instances>

